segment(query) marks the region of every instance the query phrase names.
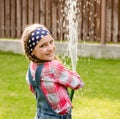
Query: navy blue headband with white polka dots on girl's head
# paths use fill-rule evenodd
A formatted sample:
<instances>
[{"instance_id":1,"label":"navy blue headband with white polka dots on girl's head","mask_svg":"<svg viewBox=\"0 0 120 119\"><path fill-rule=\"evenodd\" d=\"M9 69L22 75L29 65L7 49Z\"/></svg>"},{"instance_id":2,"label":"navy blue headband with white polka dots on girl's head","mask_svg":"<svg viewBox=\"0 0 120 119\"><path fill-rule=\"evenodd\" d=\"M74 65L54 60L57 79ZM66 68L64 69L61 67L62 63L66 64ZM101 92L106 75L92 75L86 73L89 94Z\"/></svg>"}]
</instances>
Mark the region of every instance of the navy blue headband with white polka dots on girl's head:
<instances>
[{"instance_id":1,"label":"navy blue headband with white polka dots on girl's head","mask_svg":"<svg viewBox=\"0 0 120 119\"><path fill-rule=\"evenodd\" d=\"M32 53L35 46L38 42L46 35L49 35L50 32L45 27L39 27L35 31L33 31L29 37L28 44L27 44L27 51L29 54Z\"/></svg>"}]
</instances>

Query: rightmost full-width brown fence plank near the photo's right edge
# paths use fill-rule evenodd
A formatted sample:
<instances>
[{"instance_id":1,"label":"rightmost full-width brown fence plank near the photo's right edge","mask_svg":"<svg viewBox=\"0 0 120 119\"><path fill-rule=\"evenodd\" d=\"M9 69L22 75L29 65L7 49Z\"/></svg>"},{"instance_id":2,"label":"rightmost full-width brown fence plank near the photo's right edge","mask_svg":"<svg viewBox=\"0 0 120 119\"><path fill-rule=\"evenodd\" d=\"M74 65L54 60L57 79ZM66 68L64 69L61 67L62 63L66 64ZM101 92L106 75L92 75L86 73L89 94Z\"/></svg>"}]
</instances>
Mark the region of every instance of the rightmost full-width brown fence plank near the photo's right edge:
<instances>
[{"instance_id":1,"label":"rightmost full-width brown fence plank near the photo's right edge","mask_svg":"<svg viewBox=\"0 0 120 119\"><path fill-rule=\"evenodd\" d=\"M113 42L118 41L118 0L114 0L113 6Z\"/></svg>"}]
</instances>

